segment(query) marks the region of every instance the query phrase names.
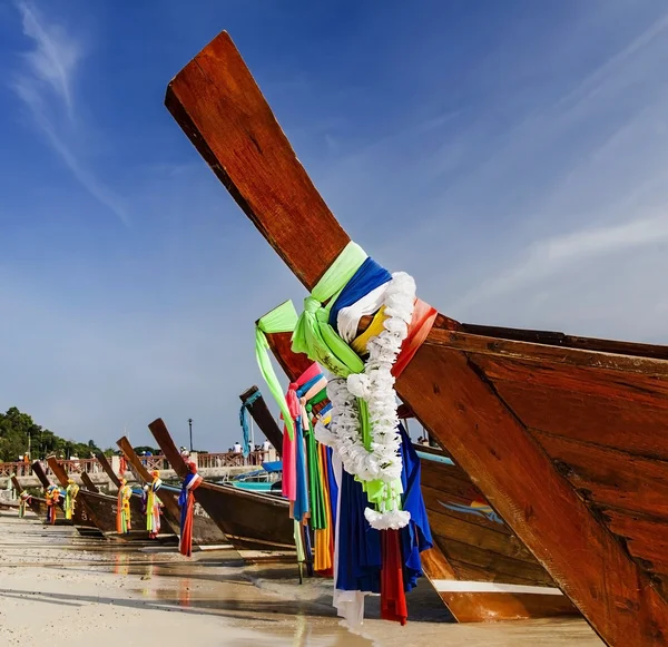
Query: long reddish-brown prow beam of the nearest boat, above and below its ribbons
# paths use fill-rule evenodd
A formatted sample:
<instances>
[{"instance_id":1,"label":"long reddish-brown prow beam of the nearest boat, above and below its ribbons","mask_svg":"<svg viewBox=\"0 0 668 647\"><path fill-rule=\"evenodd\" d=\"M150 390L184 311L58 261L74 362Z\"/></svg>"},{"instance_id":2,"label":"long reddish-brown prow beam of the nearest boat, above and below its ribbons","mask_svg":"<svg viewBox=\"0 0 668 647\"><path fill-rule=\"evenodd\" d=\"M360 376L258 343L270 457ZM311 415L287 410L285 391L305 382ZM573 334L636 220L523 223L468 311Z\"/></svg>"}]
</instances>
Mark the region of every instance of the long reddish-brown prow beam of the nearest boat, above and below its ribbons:
<instances>
[{"instance_id":1,"label":"long reddish-brown prow beam of the nearest boat, above and below its ribbons","mask_svg":"<svg viewBox=\"0 0 668 647\"><path fill-rule=\"evenodd\" d=\"M169 84L166 105L239 207L311 291L350 238L226 32ZM317 254L304 254L304 241L317 241ZM462 325L440 315L435 329L397 381L400 398L603 640L668 645L668 605L649 577L554 469L480 369L452 347L449 331L462 331ZM617 352L615 344L598 347ZM513 465L521 465L521 478Z\"/></svg>"}]
</instances>

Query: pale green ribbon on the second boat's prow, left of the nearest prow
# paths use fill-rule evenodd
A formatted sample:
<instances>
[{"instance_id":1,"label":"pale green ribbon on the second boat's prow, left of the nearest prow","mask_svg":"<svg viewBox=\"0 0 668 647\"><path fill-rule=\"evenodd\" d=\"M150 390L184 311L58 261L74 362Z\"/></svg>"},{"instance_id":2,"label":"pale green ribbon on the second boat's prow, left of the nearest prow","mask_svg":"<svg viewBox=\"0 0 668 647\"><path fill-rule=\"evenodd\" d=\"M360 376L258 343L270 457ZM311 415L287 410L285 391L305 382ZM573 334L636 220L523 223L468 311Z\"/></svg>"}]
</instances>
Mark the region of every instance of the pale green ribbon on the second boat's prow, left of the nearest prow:
<instances>
[{"instance_id":1,"label":"pale green ribbon on the second boat's prow, left of the nearest prow","mask_svg":"<svg viewBox=\"0 0 668 647\"><path fill-rule=\"evenodd\" d=\"M286 301L259 318L255 327L255 359L257 360L262 376L269 388L269 392L278 403L291 440L293 440L295 434L295 425L287 409L281 382L278 382L276 371L274 371L274 365L269 359L269 342L265 333L292 333L296 324L297 311L292 301Z\"/></svg>"}]
</instances>

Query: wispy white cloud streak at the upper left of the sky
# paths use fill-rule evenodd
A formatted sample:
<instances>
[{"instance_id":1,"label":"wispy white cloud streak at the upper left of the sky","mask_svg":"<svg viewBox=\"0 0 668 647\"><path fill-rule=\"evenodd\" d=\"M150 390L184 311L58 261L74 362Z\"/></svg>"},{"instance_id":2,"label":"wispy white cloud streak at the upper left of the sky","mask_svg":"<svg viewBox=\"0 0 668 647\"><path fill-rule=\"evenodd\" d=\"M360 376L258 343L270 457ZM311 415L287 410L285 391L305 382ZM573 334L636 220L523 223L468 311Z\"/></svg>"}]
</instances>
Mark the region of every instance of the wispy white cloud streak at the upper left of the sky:
<instances>
[{"instance_id":1,"label":"wispy white cloud streak at the upper left of the sky","mask_svg":"<svg viewBox=\"0 0 668 647\"><path fill-rule=\"evenodd\" d=\"M48 21L33 4L18 2L17 8L23 35L32 41L33 48L22 55L24 65L13 78L13 90L81 186L124 225L130 226L122 199L97 177L75 144L80 138L77 137L73 92L77 68L84 56L80 40L62 26Z\"/></svg>"}]
</instances>

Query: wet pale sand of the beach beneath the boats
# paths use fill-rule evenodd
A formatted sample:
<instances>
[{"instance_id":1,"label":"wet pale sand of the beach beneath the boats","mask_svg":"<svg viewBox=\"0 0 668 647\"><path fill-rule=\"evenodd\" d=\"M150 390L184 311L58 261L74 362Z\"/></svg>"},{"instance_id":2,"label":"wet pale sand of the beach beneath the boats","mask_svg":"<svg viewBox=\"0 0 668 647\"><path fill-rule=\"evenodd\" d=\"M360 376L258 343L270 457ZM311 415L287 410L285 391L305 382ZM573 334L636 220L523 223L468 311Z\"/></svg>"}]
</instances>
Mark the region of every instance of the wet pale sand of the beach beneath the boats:
<instances>
[{"instance_id":1,"label":"wet pale sand of the beach beneath the boats","mask_svg":"<svg viewBox=\"0 0 668 647\"><path fill-rule=\"evenodd\" d=\"M454 624L426 581L409 596L405 627L379 620L372 598L370 619L353 634L334 615L331 582L299 586L296 576L292 565L245 566L232 550L187 559L0 512L0 645L601 645L583 620Z\"/></svg>"}]
</instances>

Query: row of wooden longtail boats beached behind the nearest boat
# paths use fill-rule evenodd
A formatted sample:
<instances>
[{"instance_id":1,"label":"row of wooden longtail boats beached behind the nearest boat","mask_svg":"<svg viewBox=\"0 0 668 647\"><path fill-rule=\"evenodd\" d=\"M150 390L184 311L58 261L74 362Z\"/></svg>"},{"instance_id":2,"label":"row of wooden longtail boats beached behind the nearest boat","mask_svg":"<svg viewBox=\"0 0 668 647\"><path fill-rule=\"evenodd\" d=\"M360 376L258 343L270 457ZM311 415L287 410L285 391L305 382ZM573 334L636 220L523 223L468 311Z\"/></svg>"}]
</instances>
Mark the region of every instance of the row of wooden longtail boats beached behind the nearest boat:
<instances>
[{"instance_id":1,"label":"row of wooden longtail boats beached behind the nearest boat","mask_svg":"<svg viewBox=\"0 0 668 647\"><path fill-rule=\"evenodd\" d=\"M304 355L289 351L284 333L269 334L269 345L294 381L308 363ZM254 395L254 398L249 398ZM266 402L253 388L242 394L258 428L275 447L282 444L282 431ZM403 410L404 415L410 414ZM186 479L189 467L174 443L165 423L158 419L149 424L156 442L179 478ZM128 467L139 483L150 486L155 476L148 471L134 451L129 440L118 440ZM432 528L434 547L423 553L424 575L429 578L450 611L444 617L458 621L493 621L574 615L576 609L536 558L510 531L484 500L466 474L441 450L415 445L422 462L422 493ZM98 454L104 471L117 489L122 487L124 474L116 474L104 454ZM49 467L62 488L72 483L70 474L53 457ZM45 492L53 483L36 462L33 473ZM101 493L88 474L80 476L82 488L76 493L71 520L62 509L56 523L72 523L87 537L104 537L124 541L147 541L146 504L141 490L130 499L132 528L119 532L117 526L118 498ZM22 492L13 478L14 488ZM179 488L161 484L158 496L163 502L161 543L176 543L181 533ZM294 560L294 523L286 499L275 492L245 490L233 483L204 481L193 491L196 502L193 516L191 541L200 548L232 546L248 561ZM48 516L48 502L40 497L26 497L24 504L41 518ZM183 501L183 500L181 500Z\"/></svg>"}]
</instances>

